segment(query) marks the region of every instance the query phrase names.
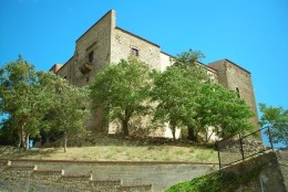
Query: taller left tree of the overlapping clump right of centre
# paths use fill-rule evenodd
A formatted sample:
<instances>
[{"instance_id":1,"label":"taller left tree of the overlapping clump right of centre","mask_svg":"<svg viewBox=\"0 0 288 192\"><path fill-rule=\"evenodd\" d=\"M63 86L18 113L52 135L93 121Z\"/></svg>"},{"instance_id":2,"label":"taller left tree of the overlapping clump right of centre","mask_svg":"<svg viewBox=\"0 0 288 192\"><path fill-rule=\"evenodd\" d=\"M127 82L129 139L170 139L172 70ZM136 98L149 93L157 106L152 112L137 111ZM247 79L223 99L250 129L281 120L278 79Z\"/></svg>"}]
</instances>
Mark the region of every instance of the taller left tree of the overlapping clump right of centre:
<instances>
[{"instance_id":1,"label":"taller left tree of the overlapping clump right of centre","mask_svg":"<svg viewBox=\"0 0 288 192\"><path fill-rule=\"evenodd\" d=\"M209 82L205 70L195 64L202 56L200 52L189 50L175 57L173 66L165 72L154 73L152 99L158 104L155 119L169 122L174 139L176 127L194 125L195 128L197 98L203 85Z\"/></svg>"}]
</instances>

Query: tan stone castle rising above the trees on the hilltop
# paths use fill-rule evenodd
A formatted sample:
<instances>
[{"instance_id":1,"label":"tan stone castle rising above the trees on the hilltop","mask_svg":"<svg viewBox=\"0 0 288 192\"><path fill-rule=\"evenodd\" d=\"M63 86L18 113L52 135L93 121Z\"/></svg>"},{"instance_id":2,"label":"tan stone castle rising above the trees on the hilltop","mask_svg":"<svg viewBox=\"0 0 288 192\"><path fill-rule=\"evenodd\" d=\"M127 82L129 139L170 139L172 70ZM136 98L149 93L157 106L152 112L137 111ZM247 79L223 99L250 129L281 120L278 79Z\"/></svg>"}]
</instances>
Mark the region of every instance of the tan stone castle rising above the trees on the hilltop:
<instances>
[{"instance_id":1,"label":"tan stone castle rising above the trees on the hilltop","mask_svg":"<svg viewBox=\"0 0 288 192\"><path fill-rule=\"evenodd\" d=\"M130 55L138 57L157 71L164 71L172 65L174 56L161 51L160 45L116 26L115 19L115 11L109 11L76 40L74 55L64 65L55 64L50 71L71 84L83 86L109 64L119 63L121 58L127 58ZM246 100L256 114L251 121L258 127L250 73L227 58L207 65L197 63L207 70L216 83L237 92L238 96ZM89 128L107 131L107 124L101 119L101 113L94 113L89 120ZM168 132L164 131L164 136L168 136Z\"/></svg>"}]
</instances>

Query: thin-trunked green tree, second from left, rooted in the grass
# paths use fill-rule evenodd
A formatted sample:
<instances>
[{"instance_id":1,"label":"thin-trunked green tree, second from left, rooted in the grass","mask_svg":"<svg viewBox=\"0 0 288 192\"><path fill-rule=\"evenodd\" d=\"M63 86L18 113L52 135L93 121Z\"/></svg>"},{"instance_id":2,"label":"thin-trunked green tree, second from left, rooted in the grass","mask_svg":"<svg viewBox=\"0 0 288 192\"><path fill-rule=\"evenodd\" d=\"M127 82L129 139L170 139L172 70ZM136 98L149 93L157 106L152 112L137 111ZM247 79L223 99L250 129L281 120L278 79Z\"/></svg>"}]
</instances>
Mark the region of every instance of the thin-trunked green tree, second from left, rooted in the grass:
<instances>
[{"instance_id":1,"label":"thin-trunked green tree, second from left, rooted in the grass","mask_svg":"<svg viewBox=\"0 0 288 192\"><path fill-rule=\"evenodd\" d=\"M63 132L64 152L69 136L85 132L84 120L89 118L89 89L76 87L59 78L53 85L54 104L42 121L44 131Z\"/></svg>"}]
</instances>

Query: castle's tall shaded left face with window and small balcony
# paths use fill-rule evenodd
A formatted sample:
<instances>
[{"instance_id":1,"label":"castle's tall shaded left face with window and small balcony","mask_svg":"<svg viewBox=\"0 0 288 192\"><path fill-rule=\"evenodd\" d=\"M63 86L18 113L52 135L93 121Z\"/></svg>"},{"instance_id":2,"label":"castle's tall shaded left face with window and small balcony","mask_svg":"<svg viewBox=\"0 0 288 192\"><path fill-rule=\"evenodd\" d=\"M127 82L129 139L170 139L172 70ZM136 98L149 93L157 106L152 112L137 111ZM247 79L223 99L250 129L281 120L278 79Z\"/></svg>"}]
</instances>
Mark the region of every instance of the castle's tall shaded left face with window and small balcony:
<instances>
[{"instance_id":1,"label":"castle's tall shaded left face with window and small balcony","mask_svg":"<svg viewBox=\"0 0 288 192\"><path fill-rule=\"evenodd\" d=\"M86 85L95 74L110 63L111 33L115 24L114 11L107 12L76 40L72 64L75 85Z\"/></svg>"}]
</instances>

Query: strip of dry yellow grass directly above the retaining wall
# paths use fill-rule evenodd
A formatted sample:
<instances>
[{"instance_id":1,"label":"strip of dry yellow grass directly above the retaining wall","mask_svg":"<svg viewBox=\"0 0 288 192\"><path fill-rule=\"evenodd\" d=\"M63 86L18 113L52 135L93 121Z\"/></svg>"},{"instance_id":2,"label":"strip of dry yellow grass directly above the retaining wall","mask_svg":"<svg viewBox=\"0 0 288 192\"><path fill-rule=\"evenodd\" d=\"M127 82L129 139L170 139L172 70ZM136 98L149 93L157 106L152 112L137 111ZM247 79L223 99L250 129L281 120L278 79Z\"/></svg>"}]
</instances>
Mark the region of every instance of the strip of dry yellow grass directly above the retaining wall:
<instances>
[{"instance_id":1,"label":"strip of dry yellow grass directly above the retaining wall","mask_svg":"<svg viewBox=\"0 0 288 192\"><path fill-rule=\"evenodd\" d=\"M85 161L183 161L217 162L217 151L203 147L179 146L94 146L42 148L30 151L13 151L0 158Z\"/></svg>"}]
</instances>

